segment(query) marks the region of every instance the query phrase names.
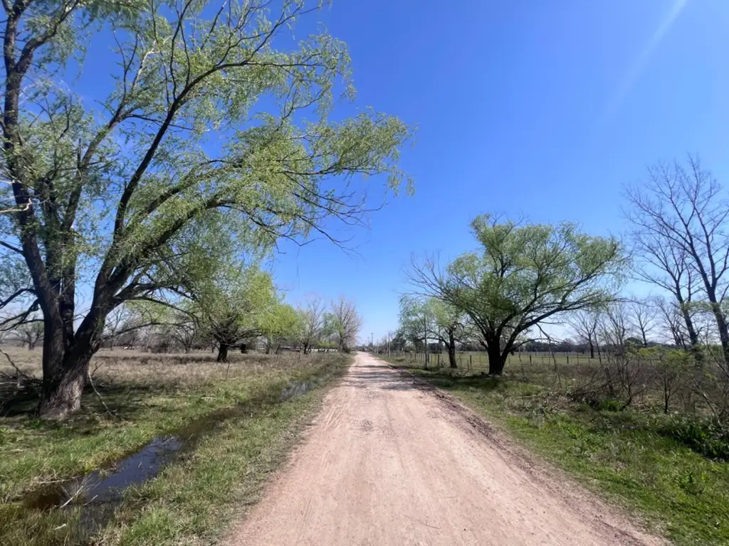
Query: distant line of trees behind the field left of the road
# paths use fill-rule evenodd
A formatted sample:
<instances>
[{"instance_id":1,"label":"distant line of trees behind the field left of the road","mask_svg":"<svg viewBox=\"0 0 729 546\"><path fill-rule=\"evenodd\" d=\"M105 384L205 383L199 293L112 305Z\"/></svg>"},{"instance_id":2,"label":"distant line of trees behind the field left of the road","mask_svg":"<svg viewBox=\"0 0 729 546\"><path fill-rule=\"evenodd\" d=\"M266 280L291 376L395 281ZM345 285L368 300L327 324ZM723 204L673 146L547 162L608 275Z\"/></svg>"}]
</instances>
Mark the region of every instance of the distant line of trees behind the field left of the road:
<instances>
[{"instance_id":1,"label":"distant line of trees behind the field left of the road","mask_svg":"<svg viewBox=\"0 0 729 546\"><path fill-rule=\"evenodd\" d=\"M270 274L257 268L228 278L225 290L217 285L214 292L190 298L117 307L107 317L102 347L186 353L217 350L217 361L222 363L227 362L230 349L247 352L260 346L266 354L284 347L304 354L321 349L349 352L362 323L354 303L343 296L328 305L318 295L308 296L300 306L286 304L273 288ZM11 342L33 350L43 341L43 321L32 317L0 332L0 344Z\"/></svg>"}]
</instances>

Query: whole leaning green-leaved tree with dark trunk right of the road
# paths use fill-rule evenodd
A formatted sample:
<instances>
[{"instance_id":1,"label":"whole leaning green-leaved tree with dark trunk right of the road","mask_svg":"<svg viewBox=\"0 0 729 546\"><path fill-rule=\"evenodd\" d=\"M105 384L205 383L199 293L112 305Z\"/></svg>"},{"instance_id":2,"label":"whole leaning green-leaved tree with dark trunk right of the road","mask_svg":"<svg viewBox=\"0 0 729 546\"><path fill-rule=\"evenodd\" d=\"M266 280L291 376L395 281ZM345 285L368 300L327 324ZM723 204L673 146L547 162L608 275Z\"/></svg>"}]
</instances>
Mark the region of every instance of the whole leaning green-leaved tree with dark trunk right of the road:
<instances>
[{"instance_id":1,"label":"whole leaning green-leaved tree with dark trunk right of the road","mask_svg":"<svg viewBox=\"0 0 729 546\"><path fill-rule=\"evenodd\" d=\"M478 216L471 227L477 251L445 271L433 260L413 261L409 278L421 293L469 316L488 353L489 373L502 373L530 329L601 306L615 293L624 260L613 238L591 237L573 223L516 223L491 215Z\"/></svg>"}]
</instances>

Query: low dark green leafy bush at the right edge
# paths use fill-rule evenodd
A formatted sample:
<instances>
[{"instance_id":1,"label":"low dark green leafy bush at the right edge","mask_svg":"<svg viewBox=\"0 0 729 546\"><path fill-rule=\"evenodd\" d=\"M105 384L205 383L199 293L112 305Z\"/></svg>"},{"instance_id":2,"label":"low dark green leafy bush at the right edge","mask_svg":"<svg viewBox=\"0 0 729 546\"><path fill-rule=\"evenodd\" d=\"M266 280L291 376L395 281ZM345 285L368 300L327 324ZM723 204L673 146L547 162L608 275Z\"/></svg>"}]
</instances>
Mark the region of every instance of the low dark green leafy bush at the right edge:
<instances>
[{"instance_id":1,"label":"low dark green leafy bush at the right edge","mask_svg":"<svg viewBox=\"0 0 729 546\"><path fill-rule=\"evenodd\" d=\"M729 426L715 417L676 416L661 427L660 433L710 459L729 461Z\"/></svg>"}]
</instances>

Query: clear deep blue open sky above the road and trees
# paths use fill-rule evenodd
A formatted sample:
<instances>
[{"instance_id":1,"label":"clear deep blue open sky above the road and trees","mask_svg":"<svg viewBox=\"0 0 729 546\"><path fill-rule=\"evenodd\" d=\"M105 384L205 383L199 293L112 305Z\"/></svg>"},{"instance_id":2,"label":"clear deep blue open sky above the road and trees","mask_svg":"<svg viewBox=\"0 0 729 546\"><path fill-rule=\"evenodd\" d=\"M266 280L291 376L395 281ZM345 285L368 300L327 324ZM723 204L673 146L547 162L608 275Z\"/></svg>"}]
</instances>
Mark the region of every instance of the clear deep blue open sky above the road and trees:
<instances>
[{"instance_id":1,"label":"clear deep blue open sky above the road and trees","mask_svg":"<svg viewBox=\"0 0 729 546\"><path fill-rule=\"evenodd\" d=\"M289 301L353 298L363 337L396 328L410 254L473 248L477 214L619 234L621 187L647 165L698 152L729 183L725 0L335 0L320 18L358 103L418 126L416 195L354 233L359 256L315 242L276 260Z\"/></svg>"}]
</instances>

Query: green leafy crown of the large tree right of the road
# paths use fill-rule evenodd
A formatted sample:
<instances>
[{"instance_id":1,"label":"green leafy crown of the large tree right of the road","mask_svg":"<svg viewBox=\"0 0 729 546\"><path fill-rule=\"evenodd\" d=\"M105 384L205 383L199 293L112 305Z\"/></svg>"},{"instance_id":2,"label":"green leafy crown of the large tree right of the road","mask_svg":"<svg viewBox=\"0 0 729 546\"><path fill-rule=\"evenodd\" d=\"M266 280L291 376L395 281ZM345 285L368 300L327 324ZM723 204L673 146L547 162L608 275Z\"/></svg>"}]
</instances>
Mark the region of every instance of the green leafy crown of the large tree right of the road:
<instances>
[{"instance_id":1,"label":"green leafy crown of the large tree right of the road","mask_svg":"<svg viewBox=\"0 0 729 546\"><path fill-rule=\"evenodd\" d=\"M481 245L448 266L451 298L484 321L512 327L557 312L609 301L623 264L615 239L590 237L573 223L499 223L490 215L471 224Z\"/></svg>"}]
</instances>

